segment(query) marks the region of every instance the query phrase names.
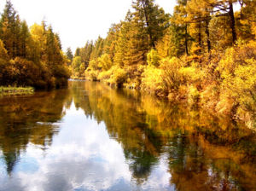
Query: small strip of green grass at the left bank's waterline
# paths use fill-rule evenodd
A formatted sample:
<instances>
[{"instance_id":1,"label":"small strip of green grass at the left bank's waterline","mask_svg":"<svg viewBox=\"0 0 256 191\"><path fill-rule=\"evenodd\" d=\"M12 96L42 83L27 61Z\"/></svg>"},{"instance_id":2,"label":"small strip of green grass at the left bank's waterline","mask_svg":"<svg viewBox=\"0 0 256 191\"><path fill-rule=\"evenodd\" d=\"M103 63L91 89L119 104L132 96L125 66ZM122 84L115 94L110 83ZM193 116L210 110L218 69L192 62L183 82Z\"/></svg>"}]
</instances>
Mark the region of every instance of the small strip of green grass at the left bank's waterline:
<instances>
[{"instance_id":1,"label":"small strip of green grass at the left bank's waterline","mask_svg":"<svg viewBox=\"0 0 256 191\"><path fill-rule=\"evenodd\" d=\"M33 93L34 93L34 89L32 87L0 86L0 96L27 95L27 94L33 94Z\"/></svg>"}]
</instances>

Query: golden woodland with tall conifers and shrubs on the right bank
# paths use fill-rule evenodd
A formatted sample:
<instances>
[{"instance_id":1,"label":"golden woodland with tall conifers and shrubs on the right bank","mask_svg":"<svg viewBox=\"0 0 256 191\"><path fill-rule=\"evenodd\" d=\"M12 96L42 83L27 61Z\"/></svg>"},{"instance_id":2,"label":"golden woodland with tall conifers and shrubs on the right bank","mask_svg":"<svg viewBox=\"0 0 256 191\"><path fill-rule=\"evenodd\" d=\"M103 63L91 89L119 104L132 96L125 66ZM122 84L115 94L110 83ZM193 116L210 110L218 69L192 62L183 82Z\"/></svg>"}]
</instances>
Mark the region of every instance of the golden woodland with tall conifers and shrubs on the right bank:
<instances>
[{"instance_id":1,"label":"golden woodland with tall conifers and shrubs on the right bank","mask_svg":"<svg viewBox=\"0 0 256 191\"><path fill-rule=\"evenodd\" d=\"M253 0L177 0L172 15L154 0L136 0L107 38L74 56L67 49L67 57L72 78L188 101L254 126L255 37Z\"/></svg>"}]
</instances>

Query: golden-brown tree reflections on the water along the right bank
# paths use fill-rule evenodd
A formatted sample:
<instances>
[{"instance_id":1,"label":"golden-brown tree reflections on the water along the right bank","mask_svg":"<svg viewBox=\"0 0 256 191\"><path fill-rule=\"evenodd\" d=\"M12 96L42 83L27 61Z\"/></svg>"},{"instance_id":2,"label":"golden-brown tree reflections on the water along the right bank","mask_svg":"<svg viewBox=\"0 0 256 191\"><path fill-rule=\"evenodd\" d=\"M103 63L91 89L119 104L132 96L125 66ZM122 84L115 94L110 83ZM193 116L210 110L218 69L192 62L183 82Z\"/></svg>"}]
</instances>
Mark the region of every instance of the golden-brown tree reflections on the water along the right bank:
<instances>
[{"instance_id":1,"label":"golden-brown tree reflections on the water along the right bank","mask_svg":"<svg viewBox=\"0 0 256 191\"><path fill-rule=\"evenodd\" d=\"M84 93L73 89L75 105L121 143L138 184L167 153L177 190L255 188L255 134L242 124L137 91L96 83L85 83Z\"/></svg>"}]
</instances>

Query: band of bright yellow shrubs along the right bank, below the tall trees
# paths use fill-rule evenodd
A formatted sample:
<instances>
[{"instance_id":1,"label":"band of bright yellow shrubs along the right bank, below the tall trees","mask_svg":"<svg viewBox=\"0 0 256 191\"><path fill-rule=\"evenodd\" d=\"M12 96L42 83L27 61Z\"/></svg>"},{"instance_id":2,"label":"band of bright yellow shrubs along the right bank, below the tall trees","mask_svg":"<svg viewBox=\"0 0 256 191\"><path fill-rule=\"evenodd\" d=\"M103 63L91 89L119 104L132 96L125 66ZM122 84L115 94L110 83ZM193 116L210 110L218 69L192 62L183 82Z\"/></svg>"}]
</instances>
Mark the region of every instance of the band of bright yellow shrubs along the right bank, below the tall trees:
<instances>
[{"instance_id":1,"label":"band of bright yellow shrubs along the right bank, below the tall trees","mask_svg":"<svg viewBox=\"0 0 256 191\"><path fill-rule=\"evenodd\" d=\"M89 64L84 76L169 101L186 102L190 107L201 107L213 115L240 120L256 129L255 48L256 41L251 41L203 57L179 58L162 58L152 50L147 65L113 65L106 71Z\"/></svg>"}]
</instances>

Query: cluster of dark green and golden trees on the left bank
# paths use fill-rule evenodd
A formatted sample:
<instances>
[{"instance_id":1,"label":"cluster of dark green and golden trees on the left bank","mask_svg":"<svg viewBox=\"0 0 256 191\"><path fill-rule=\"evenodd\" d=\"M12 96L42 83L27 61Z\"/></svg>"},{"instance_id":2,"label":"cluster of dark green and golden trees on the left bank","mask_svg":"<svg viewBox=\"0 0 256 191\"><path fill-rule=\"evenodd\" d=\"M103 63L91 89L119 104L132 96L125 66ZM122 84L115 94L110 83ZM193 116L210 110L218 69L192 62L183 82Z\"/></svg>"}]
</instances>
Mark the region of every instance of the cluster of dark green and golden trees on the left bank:
<instances>
[{"instance_id":1,"label":"cluster of dark green and golden trees on the left bank","mask_svg":"<svg viewBox=\"0 0 256 191\"><path fill-rule=\"evenodd\" d=\"M52 88L67 84L61 40L45 22L29 29L10 1L0 18L0 85Z\"/></svg>"}]
</instances>

